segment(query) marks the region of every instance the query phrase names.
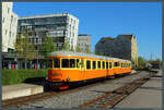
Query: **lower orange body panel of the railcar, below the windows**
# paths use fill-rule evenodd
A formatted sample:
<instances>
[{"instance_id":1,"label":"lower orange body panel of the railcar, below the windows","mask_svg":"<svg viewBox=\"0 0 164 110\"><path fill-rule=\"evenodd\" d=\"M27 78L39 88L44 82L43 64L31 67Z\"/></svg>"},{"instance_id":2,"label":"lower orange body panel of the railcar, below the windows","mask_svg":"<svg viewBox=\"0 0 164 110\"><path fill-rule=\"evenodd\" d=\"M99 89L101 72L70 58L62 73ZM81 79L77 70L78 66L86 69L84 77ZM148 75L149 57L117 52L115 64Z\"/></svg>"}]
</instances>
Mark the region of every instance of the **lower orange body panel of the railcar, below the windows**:
<instances>
[{"instance_id":1,"label":"lower orange body panel of the railcar, below the windows","mask_svg":"<svg viewBox=\"0 0 164 110\"><path fill-rule=\"evenodd\" d=\"M131 69L110 69L110 70L49 70L48 80L50 82L79 82L108 75L130 73Z\"/></svg>"}]
</instances>

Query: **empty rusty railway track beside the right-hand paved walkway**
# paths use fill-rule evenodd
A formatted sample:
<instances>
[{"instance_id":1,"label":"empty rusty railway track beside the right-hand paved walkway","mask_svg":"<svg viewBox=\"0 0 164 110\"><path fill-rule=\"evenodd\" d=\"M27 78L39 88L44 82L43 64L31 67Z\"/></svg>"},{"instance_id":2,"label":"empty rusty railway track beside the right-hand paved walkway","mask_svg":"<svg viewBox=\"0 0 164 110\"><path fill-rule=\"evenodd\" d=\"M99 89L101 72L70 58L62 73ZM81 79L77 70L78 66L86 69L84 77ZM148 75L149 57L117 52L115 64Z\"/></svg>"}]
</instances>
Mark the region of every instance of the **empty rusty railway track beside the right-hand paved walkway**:
<instances>
[{"instance_id":1,"label":"empty rusty railway track beside the right-hand paved walkway","mask_svg":"<svg viewBox=\"0 0 164 110\"><path fill-rule=\"evenodd\" d=\"M128 95L130 95L132 91L134 91L137 88L139 88L141 85L143 85L145 82L148 82L153 76L152 73L149 75L141 77L139 80L134 80L131 83L127 83L126 85L116 88L113 91L108 91L102 97L98 97L96 99L93 99L89 102L85 102L81 105L79 108L114 108L115 105L120 102L124 98L126 98Z\"/></svg>"}]
</instances>

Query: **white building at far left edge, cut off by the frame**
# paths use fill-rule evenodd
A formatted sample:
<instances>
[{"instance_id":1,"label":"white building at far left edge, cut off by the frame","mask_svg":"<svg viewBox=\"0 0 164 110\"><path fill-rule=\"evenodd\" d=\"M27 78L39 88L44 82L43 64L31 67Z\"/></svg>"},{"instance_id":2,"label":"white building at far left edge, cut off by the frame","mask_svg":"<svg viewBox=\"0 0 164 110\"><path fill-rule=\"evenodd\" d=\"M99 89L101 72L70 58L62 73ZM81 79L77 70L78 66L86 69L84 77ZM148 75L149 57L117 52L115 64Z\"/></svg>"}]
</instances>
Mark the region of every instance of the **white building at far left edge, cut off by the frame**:
<instances>
[{"instance_id":1,"label":"white building at far left edge, cut off by the frame","mask_svg":"<svg viewBox=\"0 0 164 110\"><path fill-rule=\"evenodd\" d=\"M2 52L13 50L16 40L17 15L12 8L13 2L2 2Z\"/></svg>"}]
</instances>

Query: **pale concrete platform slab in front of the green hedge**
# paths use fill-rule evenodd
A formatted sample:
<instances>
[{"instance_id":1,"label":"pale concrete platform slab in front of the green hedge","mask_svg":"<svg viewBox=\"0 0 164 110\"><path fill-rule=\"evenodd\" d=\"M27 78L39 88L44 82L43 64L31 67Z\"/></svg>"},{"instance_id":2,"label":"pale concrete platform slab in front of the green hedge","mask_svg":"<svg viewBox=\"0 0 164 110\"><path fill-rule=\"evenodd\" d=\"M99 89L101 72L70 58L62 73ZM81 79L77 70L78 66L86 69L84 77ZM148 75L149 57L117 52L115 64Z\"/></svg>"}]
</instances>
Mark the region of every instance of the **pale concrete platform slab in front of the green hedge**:
<instances>
[{"instance_id":1,"label":"pale concrete platform slab in front of the green hedge","mask_svg":"<svg viewBox=\"0 0 164 110\"><path fill-rule=\"evenodd\" d=\"M2 100L40 94L43 91L43 86L33 84L23 83L16 85L2 86Z\"/></svg>"}]
</instances>

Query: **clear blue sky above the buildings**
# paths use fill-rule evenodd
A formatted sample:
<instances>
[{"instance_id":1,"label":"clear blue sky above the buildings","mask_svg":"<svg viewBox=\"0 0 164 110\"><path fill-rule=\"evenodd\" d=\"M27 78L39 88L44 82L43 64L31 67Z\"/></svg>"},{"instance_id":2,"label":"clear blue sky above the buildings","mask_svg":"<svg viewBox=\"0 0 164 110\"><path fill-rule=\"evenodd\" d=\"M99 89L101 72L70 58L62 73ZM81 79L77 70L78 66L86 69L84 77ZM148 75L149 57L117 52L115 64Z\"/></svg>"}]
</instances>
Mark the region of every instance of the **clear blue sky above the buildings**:
<instances>
[{"instance_id":1,"label":"clear blue sky above the buildings","mask_svg":"<svg viewBox=\"0 0 164 110\"><path fill-rule=\"evenodd\" d=\"M19 16L68 12L80 21L79 34L92 37L92 51L101 37L133 34L139 56L162 58L161 2L14 2Z\"/></svg>"}]
</instances>

